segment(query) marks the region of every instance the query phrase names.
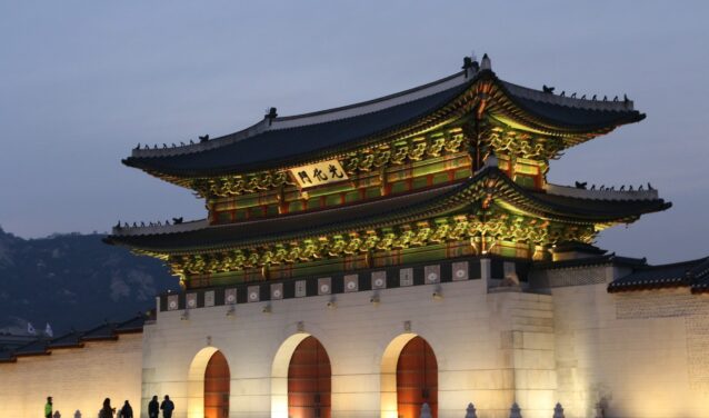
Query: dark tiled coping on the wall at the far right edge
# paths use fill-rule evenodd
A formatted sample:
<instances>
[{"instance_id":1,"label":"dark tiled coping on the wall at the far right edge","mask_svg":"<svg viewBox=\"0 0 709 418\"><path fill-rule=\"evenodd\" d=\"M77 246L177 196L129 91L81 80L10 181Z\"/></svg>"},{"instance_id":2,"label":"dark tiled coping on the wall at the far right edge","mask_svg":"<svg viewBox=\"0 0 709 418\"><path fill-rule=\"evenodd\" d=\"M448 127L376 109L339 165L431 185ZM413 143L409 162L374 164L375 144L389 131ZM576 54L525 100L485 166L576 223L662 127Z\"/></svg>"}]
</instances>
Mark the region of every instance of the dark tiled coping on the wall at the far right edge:
<instances>
[{"instance_id":1,"label":"dark tiled coping on the wall at the far right edge","mask_svg":"<svg viewBox=\"0 0 709 418\"><path fill-rule=\"evenodd\" d=\"M609 292L689 288L692 293L709 291L709 257L661 266L645 266L608 285Z\"/></svg>"}]
</instances>

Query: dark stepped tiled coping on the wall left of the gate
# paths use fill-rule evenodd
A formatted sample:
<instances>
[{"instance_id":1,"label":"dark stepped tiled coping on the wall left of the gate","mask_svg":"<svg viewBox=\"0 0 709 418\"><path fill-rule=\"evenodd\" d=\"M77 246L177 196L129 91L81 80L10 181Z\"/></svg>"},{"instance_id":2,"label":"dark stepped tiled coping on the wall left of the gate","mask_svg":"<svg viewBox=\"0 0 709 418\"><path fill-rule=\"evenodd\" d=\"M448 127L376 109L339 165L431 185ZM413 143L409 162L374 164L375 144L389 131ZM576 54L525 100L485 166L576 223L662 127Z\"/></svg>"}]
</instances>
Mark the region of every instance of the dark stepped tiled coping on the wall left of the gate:
<instances>
[{"instance_id":1,"label":"dark stepped tiled coping on the wall left of the gate","mask_svg":"<svg viewBox=\"0 0 709 418\"><path fill-rule=\"evenodd\" d=\"M117 340L121 334L142 332L147 315L138 315L121 322L104 322L88 331L71 330L57 338L38 336L23 346L0 350L0 362L14 362L18 357L49 356L53 349L82 348L86 341Z\"/></svg>"}]
</instances>

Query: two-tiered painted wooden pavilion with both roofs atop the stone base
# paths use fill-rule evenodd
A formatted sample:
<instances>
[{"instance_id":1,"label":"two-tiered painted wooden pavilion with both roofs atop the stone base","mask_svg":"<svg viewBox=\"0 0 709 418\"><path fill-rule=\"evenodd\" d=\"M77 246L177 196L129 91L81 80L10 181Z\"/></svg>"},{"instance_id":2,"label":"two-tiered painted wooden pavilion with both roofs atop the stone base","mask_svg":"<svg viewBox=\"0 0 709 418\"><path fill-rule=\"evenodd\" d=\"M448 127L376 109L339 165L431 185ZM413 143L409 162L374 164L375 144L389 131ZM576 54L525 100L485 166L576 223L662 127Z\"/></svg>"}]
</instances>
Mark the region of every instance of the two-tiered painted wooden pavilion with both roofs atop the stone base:
<instances>
[{"instance_id":1,"label":"two-tiered painted wooden pavilion with both roofs atop the stone base","mask_svg":"<svg viewBox=\"0 0 709 418\"><path fill-rule=\"evenodd\" d=\"M123 163L192 190L208 216L119 222L107 241L164 260L188 289L485 255L551 260L557 245L670 206L649 185L547 181L566 149L643 118L627 98L529 89L487 56L467 58L456 74L368 102L270 109L221 138L136 148Z\"/></svg>"}]
</instances>

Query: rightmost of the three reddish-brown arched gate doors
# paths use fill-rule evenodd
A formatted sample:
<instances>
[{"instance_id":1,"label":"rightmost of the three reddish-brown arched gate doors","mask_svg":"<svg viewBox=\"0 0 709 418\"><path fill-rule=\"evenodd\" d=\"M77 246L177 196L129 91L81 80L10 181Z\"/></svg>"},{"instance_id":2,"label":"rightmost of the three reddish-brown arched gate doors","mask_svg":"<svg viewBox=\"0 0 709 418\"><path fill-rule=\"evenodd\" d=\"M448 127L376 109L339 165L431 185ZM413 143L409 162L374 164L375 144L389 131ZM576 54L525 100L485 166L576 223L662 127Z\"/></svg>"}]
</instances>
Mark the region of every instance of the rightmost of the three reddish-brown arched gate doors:
<instances>
[{"instance_id":1,"label":"rightmost of the three reddish-brown arched gate doors","mask_svg":"<svg viewBox=\"0 0 709 418\"><path fill-rule=\"evenodd\" d=\"M431 346L421 337L409 341L397 362L397 408L401 418L419 418L421 405L438 417L438 364Z\"/></svg>"}]
</instances>

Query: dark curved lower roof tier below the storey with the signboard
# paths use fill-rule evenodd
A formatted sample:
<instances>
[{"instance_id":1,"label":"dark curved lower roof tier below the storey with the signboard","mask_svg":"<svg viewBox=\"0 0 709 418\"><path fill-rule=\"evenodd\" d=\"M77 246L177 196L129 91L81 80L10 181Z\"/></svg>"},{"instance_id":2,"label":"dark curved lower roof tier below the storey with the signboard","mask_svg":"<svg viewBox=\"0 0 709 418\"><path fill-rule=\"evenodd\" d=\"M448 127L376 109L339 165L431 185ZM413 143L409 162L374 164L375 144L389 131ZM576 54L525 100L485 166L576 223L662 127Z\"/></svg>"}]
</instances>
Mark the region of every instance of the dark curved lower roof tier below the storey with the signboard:
<instances>
[{"instance_id":1,"label":"dark curved lower roof tier below the storey with the signboard","mask_svg":"<svg viewBox=\"0 0 709 418\"><path fill-rule=\"evenodd\" d=\"M490 179L499 181L496 181L493 185L488 185L487 180ZM344 233L352 229L390 227L403 222L421 220L425 218L455 213L461 208L465 208L477 201L480 198L480 196L477 195L487 195L489 192L493 192L496 199L508 201L512 206L522 207L531 212L541 215L547 219L571 223L590 225L599 222L618 222L627 220L630 217L637 218L646 212L662 210L662 206L669 205L665 203L665 201L662 201L661 199L658 199L657 201L643 202L643 205L647 206L645 208L626 208L625 211L620 212L613 212L612 209L607 210L603 213L597 211L583 212L583 205L569 208L558 206L555 202L545 201L542 198L535 196L531 192L515 185L499 169L495 167L487 167L461 183L426 190L413 195L391 197L379 200L377 202L354 205L350 208L344 208L344 210L352 211L352 213L348 213L347 216L342 215L341 212L343 208L326 210L326 212L329 212L330 215L338 216L329 217L332 219L323 223L317 222L317 220L322 219L322 212L306 212L273 219L258 220L251 223L214 226L207 227L201 230L190 230L172 233L150 233L144 236L138 233L127 233L124 236L121 236L119 233L108 237L106 241L108 243L133 247L138 250L147 252L194 252L190 250L198 247L200 248L199 252L211 252L216 250L262 246L291 239L307 239L321 235ZM368 205L369 209L371 210L362 210L363 205ZM618 202L613 202L610 205L611 207L620 207ZM391 206L393 206L393 208ZM406 209L400 209L402 207ZM314 222L312 221L312 219L310 219L313 218L313 216L319 218ZM342 219L344 219L344 221L342 221ZM286 226L286 228L281 227L281 229L276 227L276 229L278 230L274 230L271 233L267 232L268 223L271 223L271 226L273 227L279 222L288 225L289 221L290 223L293 223L290 226L290 229L288 226ZM310 225L309 222L312 222L312 225ZM248 237L248 233L244 233L244 231L237 230L238 228L243 228L244 226L251 227L251 229L258 227L258 236ZM209 232L210 230L212 232ZM222 236L222 238L219 238L219 240L214 241L214 236L212 236L211 242L209 242L209 233L216 233L218 236ZM190 235L192 237L189 237ZM246 238L241 240L242 242L239 242L238 240L234 240L234 237L237 236ZM177 242L176 238L178 237L181 237L183 240L187 241L183 247L174 247Z\"/></svg>"}]
</instances>

